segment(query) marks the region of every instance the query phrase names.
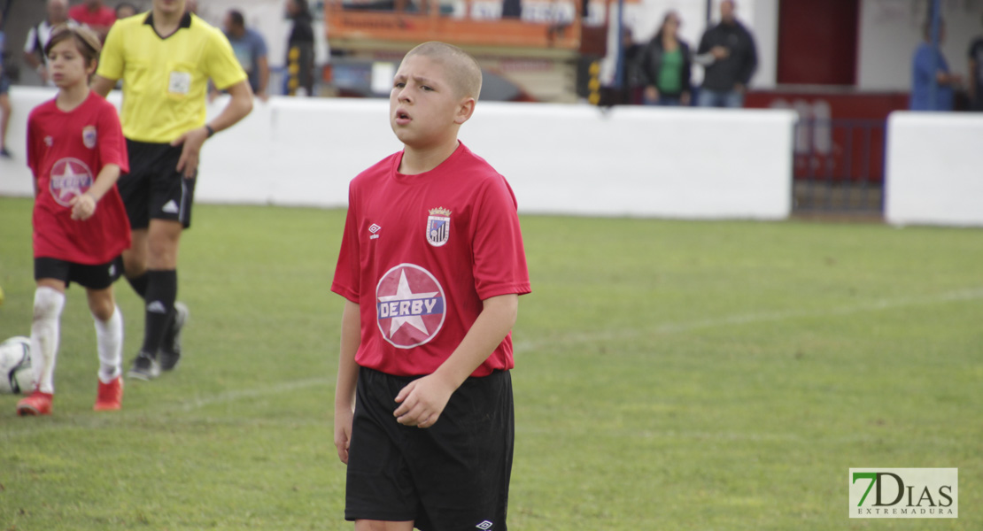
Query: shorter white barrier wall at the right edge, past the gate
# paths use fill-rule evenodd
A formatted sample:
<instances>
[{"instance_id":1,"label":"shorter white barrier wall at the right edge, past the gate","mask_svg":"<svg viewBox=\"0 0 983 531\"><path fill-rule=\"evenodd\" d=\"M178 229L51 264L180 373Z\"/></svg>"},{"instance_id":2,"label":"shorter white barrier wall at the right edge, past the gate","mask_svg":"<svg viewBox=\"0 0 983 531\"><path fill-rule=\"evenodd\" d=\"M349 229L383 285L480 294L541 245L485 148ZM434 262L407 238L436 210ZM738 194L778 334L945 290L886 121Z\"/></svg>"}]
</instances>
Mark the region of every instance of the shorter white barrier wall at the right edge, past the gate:
<instances>
[{"instance_id":1,"label":"shorter white barrier wall at the right edge, past the gate","mask_svg":"<svg viewBox=\"0 0 983 531\"><path fill-rule=\"evenodd\" d=\"M983 226L983 115L896 112L888 119L889 223Z\"/></svg>"}]
</instances>

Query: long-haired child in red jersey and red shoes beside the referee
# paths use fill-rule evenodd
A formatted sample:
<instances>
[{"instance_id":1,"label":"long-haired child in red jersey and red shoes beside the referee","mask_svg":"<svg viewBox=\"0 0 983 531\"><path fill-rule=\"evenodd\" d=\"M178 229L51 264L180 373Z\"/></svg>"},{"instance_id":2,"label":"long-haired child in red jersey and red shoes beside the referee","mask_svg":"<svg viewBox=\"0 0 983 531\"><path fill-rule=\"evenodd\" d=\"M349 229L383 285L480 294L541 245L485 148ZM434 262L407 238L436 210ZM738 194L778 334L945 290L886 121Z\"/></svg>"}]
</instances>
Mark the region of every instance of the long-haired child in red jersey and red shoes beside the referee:
<instances>
[{"instance_id":1,"label":"long-haired child in red jersey and red shoes beside the referee","mask_svg":"<svg viewBox=\"0 0 983 531\"><path fill-rule=\"evenodd\" d=\"M56 30L44 53L55 99L28 118L28 165L34 176L34 318L30 364L34 392L21 415L51 414L59 319L65 290L86 288L99 355L94 409L119 409L123 398L123 319L113 298L116 260L130 246L130 224L116 180L128 170L116 109L88 89L101 45L87 28Z\"/></svg>"}]
</instances>

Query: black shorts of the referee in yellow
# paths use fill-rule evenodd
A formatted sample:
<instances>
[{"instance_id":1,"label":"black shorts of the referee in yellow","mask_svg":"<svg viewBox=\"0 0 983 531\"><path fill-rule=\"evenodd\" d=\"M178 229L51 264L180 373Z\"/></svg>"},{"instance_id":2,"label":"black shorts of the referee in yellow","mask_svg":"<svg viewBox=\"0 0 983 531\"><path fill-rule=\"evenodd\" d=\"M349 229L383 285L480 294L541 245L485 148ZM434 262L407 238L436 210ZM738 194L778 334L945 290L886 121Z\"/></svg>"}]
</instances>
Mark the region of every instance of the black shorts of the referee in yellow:
<instances>
[{"instance_id":1,"label":"black shorts of the referee in yellow","mask_svg":"<svg viewBox=\"0 0 983 531\"><path fill-rule=\"evenodd\" d=\"M180 222L191 227L191 206L198 177L186 179L178 172L182 146L126 139L130 173L117 186L130 217L130 228L146 229L151 219Z\"/></svg>"}]
</instances>

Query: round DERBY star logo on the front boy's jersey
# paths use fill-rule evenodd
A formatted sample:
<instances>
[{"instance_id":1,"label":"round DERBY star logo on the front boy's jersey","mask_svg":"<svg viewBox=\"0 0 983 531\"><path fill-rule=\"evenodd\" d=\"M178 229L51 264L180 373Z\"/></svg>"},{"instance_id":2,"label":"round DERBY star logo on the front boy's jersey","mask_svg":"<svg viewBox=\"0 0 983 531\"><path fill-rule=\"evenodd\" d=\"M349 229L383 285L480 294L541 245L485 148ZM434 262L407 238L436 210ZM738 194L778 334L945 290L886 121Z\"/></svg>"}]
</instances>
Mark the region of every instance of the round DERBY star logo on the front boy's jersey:
<instances>
[{"instance_id":1,"label":"round DERBY star logo on the front boy's jersey","mask_svg":"<svg viewBox=\"0 0 983 531\"><path fill-rule=\"evenodd\" d=\"M426 269L399 264L376 286L378 330L389 344L412 348L434 339L446 316L443 288Z\"/></svg>"}]
</instances>

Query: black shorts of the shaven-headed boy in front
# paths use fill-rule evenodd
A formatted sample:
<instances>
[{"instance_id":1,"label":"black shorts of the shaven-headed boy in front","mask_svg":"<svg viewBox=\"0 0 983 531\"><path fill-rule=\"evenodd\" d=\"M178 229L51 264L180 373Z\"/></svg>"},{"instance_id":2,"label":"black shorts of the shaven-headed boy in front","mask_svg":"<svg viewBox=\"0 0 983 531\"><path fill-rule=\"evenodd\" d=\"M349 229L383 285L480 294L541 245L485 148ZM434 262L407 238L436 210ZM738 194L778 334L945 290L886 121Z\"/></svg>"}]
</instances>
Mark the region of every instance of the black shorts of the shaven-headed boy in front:
<instances>
[{"instance_id":1,"label":"black shorts of the shaven-headed boy in front","mask_svg":"<svg viewBox=\"0 0 983 531\"><path fill-rule=\"evenodd\" d=\"M515 439L508 371L468 378L430 428L392 412L414 378L359 370L345 518L414 520L424 531L506 531Z\"/></svg>"}]
</instances>

